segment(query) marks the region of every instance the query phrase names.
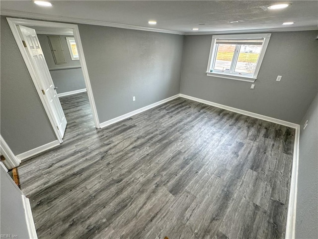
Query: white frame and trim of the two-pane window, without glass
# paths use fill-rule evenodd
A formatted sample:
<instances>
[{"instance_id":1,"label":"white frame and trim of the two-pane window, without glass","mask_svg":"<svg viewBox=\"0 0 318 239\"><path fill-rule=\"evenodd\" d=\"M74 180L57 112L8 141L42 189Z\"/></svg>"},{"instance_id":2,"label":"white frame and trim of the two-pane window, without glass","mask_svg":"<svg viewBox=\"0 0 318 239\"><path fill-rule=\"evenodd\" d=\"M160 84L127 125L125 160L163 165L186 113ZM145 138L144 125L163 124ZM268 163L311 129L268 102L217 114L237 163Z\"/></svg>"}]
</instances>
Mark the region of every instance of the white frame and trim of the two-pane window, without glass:
<instances>
[{"instance_id":1,"label":"white frame and trim of the two-pane window, without glass","mask_svg":"<svg viewBox=\"0 0 318 239\"><path fill-rule=\"evenodd\" d=\"M211 42L211 48L210 48L210 55L209 55L209 61L208 61L208 66L207 66L207 71L206 74L207 76L212 76L212 77L219 77L219 78L226 78L226 79L231 79L231 80L238 80L238 81L247 81L247 82L255 82L257 79L257 75L260 69L260 66L262 64L268 42L270 39L271 34L270 33L265 33L265 34L234 34L234 35L213 35L212 36L212 42ZM232 64L232 73L230 72L221 72L221 71L213 71L210 72L212 64L215 64L215 59L217 56L217 51L218 51L218 45L216 44L216 39L253 39L253 38L264 38L264 42L262 44L261 52L259 54L258 60L256 62L256 67L253 75L251 74L239 74L234 72L232 69L235 67L235 64ZM232 61L237 61L239 56L239 52L236 52L235 55L233 56Z\"/></svg>"}]
</instances>

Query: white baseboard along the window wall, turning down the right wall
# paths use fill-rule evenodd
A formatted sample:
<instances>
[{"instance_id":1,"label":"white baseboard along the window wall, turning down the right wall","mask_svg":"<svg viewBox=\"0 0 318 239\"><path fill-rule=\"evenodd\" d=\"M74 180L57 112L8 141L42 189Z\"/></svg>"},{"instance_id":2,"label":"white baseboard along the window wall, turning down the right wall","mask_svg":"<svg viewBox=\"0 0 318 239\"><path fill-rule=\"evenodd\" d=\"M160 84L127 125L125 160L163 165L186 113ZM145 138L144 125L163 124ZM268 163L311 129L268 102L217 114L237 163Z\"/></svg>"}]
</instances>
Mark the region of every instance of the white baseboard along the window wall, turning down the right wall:
<instances>
[{"instance_id":1,"label":"white baseboard along the window wall, turning down the right wall","mask_svg":"<svg viewBox=\"0 0 318 239\"><path fill-rule=\"evenodd\" d=\"M186 98L192 101L200 102L209 106L218 107L224 110L236 112L245 116L250 116L257 119L263 119L266 121L270 121L273 123L278 123L284 126L288 126L291 128L295 128L295 141L294 141L294 152L293 152L293 168L292 168L292 177L291 177L291 185L290 185L290 193L289 193L289 203L287 210L287 223L286 223L286 239L295 239L295 229L296 229L296 206L297 206L297 183L298 183L298 162L299 162L299 136L300 136L300 125L288 121L284 121L281 119L275 119L268 116L259 115L256 113L243 111L237 108L233 108L230 106L221 105L218 103L202 100L199 98L195 98L192 96L187 96L180 94L180 97Z\"/></svg>"}]
</instances>

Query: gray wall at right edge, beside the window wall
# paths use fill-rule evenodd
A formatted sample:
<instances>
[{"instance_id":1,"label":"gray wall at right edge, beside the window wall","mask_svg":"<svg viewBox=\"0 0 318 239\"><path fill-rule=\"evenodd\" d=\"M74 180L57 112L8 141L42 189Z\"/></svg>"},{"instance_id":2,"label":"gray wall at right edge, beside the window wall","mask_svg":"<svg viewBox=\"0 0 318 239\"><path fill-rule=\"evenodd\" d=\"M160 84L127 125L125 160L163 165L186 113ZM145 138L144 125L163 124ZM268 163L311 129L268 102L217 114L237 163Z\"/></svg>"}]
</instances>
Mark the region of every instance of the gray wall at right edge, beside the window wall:
<instances>
[{"instance_id":1,"label":"gray wall at right edge, beside the window wall","mask_svg":"<svg viewBox=\"0 0 318 239\"><path fill-rule=\"evenodd\" d=\"M304 130L304 123L308 126ZM296 238L318 238L318 95L301 121Z\"/></svg>"}]
</instances>

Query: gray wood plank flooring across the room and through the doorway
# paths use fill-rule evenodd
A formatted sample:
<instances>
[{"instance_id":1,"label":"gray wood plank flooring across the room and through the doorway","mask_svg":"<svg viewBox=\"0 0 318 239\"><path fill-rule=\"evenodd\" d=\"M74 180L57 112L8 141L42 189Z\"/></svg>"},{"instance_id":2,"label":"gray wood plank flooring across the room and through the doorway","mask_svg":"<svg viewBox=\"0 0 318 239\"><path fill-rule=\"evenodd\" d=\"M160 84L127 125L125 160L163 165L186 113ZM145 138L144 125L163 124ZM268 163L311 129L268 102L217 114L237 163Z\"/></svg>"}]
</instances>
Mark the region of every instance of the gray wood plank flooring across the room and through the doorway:
<instances>
[{"instance_id":1,"label":"gray wood plank flooring across the room and through the doorway","mask_svg":"<svg viewBox=\"0 0 318 239\"><path fill-rule=\"evenodd\" d=\"M178 98L95 129L61 98L63 144L19 167L40 239L284 238L295 130Z\"/></svg>"}]
</instances>

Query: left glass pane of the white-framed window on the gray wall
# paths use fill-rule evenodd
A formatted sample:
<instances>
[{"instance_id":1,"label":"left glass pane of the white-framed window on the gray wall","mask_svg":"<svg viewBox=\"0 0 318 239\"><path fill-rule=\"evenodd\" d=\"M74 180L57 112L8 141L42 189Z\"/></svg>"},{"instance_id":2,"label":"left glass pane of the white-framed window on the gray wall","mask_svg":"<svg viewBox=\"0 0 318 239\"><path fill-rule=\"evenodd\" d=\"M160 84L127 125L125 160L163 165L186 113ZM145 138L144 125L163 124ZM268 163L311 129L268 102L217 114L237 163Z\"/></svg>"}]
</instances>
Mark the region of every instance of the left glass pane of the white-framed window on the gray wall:
<instances>
[{"instance_id":1,"label":"left glass pane of the white-framed window on the gray wall","mask_svg":"<svg viewBox=\"0 0 318 239\"><path fill-rule=\"evenodd\" d=\"M236 45L218 44L217 57L214 64L214 70L230 71Z\"/></svg>"}]
</instances>

